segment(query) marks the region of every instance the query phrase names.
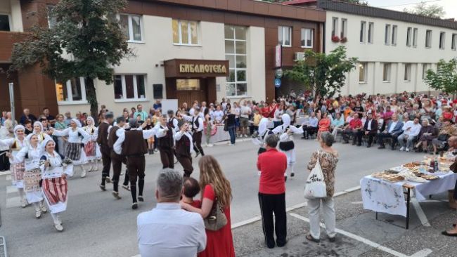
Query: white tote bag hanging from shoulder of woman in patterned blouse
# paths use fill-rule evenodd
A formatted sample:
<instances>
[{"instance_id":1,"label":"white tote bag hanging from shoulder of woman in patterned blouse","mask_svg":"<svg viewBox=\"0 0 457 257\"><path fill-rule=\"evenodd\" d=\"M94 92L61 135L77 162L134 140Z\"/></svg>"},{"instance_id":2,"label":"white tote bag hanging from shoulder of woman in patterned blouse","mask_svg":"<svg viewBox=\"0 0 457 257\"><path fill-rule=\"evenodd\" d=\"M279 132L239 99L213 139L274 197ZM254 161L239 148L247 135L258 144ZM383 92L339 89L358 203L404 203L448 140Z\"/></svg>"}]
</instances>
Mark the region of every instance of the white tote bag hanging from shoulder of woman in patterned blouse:
<instances>
[{"instance_id":1,"label":"white tote bag hanging from shoulder of woman in patterned blouse","mask_svg":"<svg viewBox=\"0 0 457 257\"><path fill-rule=\"evenodd\" d=\"M317 152L316 166L309 173L307 183L304 185L304 198L315 199L325 197L327 197L327 186L323 180L321 164L319 163L319 152Z\"/></svg>"}]
</instances>

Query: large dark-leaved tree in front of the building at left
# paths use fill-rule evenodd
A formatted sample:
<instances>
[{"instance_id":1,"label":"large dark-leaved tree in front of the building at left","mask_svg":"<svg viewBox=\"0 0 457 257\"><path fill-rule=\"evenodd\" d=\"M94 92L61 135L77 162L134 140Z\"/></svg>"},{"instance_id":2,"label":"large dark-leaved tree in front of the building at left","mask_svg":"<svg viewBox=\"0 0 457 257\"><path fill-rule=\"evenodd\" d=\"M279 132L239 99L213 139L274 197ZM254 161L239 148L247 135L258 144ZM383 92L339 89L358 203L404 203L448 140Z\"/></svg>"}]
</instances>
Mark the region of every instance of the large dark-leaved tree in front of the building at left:
<instances>
[{"instance_id":1,"label":"large dark-leaved tree in front of the building at left","mask_svg":"<svg viewBox=\"0 0 457 257\"><path fill-rule=\"evenodd\" d=\"M39 64L60 83L84 77L91 115L97 119L94 79L112 84L113 67L133 55L115 18L125 6L126 0L60 0L49 13L56 25L35 25L25 41L14 44L10 72Z\"/></svg>"}]
</instances>

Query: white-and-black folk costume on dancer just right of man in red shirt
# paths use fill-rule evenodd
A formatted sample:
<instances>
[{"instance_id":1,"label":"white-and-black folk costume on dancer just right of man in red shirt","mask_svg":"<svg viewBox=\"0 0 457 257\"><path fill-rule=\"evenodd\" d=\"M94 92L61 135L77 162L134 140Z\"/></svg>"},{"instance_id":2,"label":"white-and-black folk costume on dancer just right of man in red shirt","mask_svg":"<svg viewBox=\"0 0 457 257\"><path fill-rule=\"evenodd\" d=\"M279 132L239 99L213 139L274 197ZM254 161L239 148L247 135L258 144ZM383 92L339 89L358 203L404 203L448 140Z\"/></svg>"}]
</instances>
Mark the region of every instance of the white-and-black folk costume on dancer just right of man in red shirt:
<instances>
[{"instance_id":1,"label":"white-and-black folk costume on dancer just right of man in red shirt","mask_svg":"<svg viewBox=\"0 0 457 257\"><path fill-rule=\"evenodd\" d=\"M283 114L281 116L283 125L277 126L273 129L273 133L279 136L279 149L285 153L288 158L288 169L290 169L290 176L295 176L294 165L295 165L295 145L292 138L292 134L302 134L303 129L297 129L295 126L290 126L289 114ZM284 173L284 177L287 180L287 170Z\"/></svg>"}]
</instances>

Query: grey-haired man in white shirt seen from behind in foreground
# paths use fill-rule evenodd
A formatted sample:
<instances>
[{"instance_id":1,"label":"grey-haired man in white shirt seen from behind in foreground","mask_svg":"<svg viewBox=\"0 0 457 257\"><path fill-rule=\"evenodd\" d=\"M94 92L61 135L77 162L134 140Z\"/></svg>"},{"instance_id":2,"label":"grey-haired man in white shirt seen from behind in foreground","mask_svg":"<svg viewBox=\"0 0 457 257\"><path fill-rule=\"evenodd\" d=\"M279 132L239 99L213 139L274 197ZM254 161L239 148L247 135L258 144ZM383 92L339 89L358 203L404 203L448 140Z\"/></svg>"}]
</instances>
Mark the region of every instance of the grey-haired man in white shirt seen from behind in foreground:
<instances>
[{"instance_id":1,"label":"grey-haired man in white shirt seen from behind in foreground","mask_svg":"<svg viewBox=\"0 0 457 257\"><path fill-rule=\"evenodd\" d=\"M136 219L141 257L195 257L205 250L202 216L181 209L183 191L181 173L172 169L160 171L155 190L157 205Z\"/></svg>"}]
</instances>

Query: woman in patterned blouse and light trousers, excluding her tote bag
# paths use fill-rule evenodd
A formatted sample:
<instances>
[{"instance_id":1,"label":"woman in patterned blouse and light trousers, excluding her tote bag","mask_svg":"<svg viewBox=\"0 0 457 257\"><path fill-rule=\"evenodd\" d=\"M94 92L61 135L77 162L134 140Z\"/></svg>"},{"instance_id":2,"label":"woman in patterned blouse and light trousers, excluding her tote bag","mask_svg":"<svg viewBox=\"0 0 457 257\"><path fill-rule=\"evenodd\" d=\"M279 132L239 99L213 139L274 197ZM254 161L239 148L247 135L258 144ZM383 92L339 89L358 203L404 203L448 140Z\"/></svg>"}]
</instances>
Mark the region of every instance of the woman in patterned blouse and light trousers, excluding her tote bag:
<instances>
[{"instance_id":1,"label":"woman in patterned blouse and light trousers, excluding her tote bag","mask_svg":"<svg viewBox=\"0 0 457 257\"><path fill-rule=\"evenodd\" d=\"M310 233L307 235L307 239L317 243L320 242L321 238L321 226L319 225L321 223L319 218L320 206L323 209L323 220L326 223L328 239L330 242L335 242L335 204L333 203L333 194L335 192L335 169L338 162L338 152L332 147L334 140L335 138L330 133L322 133L319 140L321 150L313 152L311 161L308 164L308 170L311 171L316 166L319 158L327 189L326 198L308 199Z\"/></svg>"}]
</instances>

